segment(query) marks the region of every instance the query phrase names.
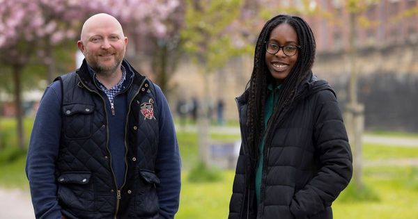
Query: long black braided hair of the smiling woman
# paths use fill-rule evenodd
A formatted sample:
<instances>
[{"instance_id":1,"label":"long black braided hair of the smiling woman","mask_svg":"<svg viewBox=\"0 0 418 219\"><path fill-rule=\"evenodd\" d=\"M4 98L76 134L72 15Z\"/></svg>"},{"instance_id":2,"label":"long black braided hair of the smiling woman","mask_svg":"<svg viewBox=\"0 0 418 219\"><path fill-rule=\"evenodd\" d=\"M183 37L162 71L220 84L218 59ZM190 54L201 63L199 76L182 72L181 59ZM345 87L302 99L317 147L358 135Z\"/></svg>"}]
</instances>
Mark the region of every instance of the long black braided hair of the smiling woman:
<instances>
[{"instance_id":1,"label":"long black braided hair of the smiling woman","mask_svg":"<svg viewBox=\"0 0 418 219\"><path fill-rule=\"evenodd\" d=\"M258 36L255 54L254 68L249 80L249 99L247 108L247 143L249 144L249 157L251 168L255 170L258 160L258 145L263 138L264 131L264 111L265 100L267 98L267 85L274 83L274 78L270 74L265 64L265 42L269 40L270 33L279 24L287 23L295 29L300 49L297 51L297 61L291 72L284 79L277 104L270 120L277 122L280 113L292 104L297 87L301 81L309 75L315 58L315 38L311 28L302 18L290 15L277 15L265 23L260 35Z\"/></svg>"}]
</instances>

